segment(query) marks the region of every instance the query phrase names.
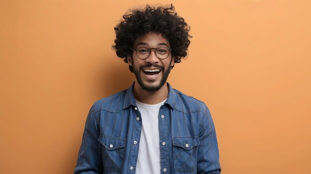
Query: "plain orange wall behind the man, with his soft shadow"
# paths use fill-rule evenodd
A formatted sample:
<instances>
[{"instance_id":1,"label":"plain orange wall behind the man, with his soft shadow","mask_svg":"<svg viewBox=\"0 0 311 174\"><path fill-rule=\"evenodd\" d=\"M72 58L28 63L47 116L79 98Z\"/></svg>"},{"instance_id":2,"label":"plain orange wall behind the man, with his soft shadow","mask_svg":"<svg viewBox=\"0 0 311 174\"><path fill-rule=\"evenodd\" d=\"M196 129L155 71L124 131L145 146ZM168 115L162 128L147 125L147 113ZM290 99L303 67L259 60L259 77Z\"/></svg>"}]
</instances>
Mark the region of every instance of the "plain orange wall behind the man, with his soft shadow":
<instances>
[{"instance_id":1,"label":"plain orange wall behind the man, with his soft shadow","mask_svg":"<svg viewBox=\"0 0 311 174\"><path fill-rule=\"evenodd\" d=\"M168 82L209 106L222 173L311 174L311 0L170 2L193 38ZM1 174L73 173L88 109L134 81L111 45L140 4L0 1Z\"/></svg>"}]
</instances>

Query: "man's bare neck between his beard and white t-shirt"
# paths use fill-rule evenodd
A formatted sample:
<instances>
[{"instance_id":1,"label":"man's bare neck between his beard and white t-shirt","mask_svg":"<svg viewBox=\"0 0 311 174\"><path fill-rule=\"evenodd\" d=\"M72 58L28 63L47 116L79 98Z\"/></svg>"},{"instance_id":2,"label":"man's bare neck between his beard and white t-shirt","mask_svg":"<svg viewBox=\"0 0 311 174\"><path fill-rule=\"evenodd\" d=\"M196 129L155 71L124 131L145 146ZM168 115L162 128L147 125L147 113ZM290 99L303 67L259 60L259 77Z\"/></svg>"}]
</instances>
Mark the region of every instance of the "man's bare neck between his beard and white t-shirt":
<instances>
[{"instance_id":1,"label":"man's bare neck between his beard and white t-shirt","mask_svg":"<svg viewBox=\"0 0 311 174\"><path fill-rule=\"evenodd\" d=\"M159 90L157 91L147 91L143 89L137 81L135 81L135 86L133 89L134 97L138 101L145 104L157 104L161 101L165 100L168 95L168 87L165 83Z\"/></svg>"}]
</instances>

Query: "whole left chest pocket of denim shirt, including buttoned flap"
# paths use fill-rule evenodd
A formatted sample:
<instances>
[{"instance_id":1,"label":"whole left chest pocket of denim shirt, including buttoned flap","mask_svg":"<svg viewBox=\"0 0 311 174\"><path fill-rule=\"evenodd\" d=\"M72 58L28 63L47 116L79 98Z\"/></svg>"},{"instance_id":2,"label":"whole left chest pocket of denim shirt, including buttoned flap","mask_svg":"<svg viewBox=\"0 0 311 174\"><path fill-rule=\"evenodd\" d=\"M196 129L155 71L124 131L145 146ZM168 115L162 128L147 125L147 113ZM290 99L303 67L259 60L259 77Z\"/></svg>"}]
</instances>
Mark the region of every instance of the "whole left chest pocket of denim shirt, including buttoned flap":
<instances>
[{"instance_id":1,"label":"whole left chest pocket of denim shirt, including buttoned flap","mask_svg":"<svg viewBox=\"0 0 311 174\"><path fill-rule=\"evenodd\" d=\"M113 138L102 135L98 138L102 145L102 160L104 169L119 172L123 165L126 140L120 137Z\"/></svg>"}]
</instances>

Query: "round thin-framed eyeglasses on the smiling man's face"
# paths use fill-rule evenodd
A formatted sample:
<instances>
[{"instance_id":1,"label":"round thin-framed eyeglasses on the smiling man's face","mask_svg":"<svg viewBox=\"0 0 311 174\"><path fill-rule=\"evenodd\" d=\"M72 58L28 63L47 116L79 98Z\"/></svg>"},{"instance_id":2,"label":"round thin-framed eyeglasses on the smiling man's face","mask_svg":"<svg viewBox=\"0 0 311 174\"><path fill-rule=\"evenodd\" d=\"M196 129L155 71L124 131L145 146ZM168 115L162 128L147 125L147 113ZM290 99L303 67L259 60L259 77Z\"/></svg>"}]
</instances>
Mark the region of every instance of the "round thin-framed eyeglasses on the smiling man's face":
<instances>
[{"instance_id":1,"label":"round thin-framed eyeglasses on the smiling man's face","mask_svg":"<svg viewBox=\"0 0 311 174\"><path fill-rule=\"evenodd\" d=\"M132 50L136 51L136 55L139 59L147 59L149 55L151 54L151 50L155 50L156 57L159 59L166 59L169 55L169 51L172 49L167 47L158 47L158 48L147 48L147 47L138 47L138 48L132 48Z\"/></svg>"}]
</instances>

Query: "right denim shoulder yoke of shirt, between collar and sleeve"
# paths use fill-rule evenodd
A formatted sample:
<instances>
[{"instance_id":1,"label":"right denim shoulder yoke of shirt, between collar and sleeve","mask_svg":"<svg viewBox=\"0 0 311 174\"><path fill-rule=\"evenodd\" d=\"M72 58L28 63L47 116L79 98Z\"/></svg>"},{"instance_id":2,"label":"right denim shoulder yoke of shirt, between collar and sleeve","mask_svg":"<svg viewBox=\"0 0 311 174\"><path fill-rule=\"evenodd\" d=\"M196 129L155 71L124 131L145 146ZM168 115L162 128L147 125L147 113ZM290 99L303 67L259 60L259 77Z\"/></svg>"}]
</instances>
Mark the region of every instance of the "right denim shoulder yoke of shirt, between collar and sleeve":
<instances>
[{"instance_id":1,"label":"right denim shoulder yoke of shirt, between collar and sleeve","mask_svg":"<svg viewBox=\"0 0 311 174\"><path fill-rule=\"evenodd\" d=\"M209 112L208 107L203 101L192 96L186 95L177 89L172 89L174 94L174 109L182 112Z\"/></svg>"}]
</instances>

